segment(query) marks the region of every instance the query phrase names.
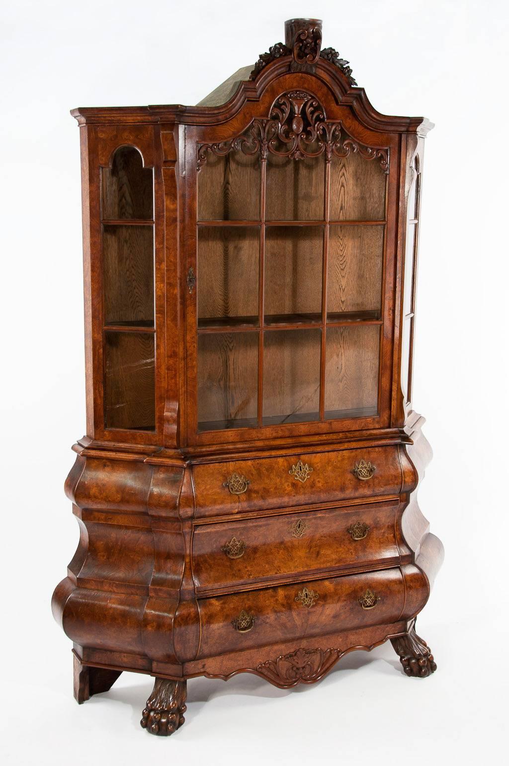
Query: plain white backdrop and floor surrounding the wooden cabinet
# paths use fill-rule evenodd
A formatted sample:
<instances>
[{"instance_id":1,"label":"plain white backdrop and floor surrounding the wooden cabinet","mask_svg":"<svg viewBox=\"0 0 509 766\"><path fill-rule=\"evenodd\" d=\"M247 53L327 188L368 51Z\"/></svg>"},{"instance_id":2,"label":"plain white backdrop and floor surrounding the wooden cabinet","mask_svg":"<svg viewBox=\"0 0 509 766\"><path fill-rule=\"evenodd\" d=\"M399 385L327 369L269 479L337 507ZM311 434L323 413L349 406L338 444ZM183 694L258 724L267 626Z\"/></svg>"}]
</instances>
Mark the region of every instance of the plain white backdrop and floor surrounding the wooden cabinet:
<instances>
[{"instance_id":1,"label":"plain white backdrop and floor surrounding the wooden cabinet","mask_svg":"<svg viewBox=\"0 0 509 766\"><path fill-rule=\"evenodd\" d=\"M189 682L170 739L139 725L152 682L78 707L51 592L77 545L65 499L84 433L80 155L74 106L197 103L323 18L387 114L425 115L414 404L435 457L419 493L445 564L408 679L390 645L317 686ZM507 2L2 2L2 692L8 764L491 763L507 705ZM205 704L206 702L206 704ZM506 707L507 712L507 707Z\"/></svg>"}]
</instances>

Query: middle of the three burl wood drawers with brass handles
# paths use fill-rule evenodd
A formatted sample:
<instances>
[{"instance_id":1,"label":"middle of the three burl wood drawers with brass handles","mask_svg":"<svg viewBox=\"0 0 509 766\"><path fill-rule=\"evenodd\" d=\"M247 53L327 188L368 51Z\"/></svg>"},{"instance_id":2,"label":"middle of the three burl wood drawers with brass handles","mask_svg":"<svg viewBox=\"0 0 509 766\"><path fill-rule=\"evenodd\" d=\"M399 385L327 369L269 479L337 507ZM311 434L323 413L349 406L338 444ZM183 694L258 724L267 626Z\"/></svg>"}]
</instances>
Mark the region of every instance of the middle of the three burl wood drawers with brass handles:
<instances>
[{"instance_id":1,"label":"middle of the three burl wood drawers with brass handles","mask_svg":"<svg viewBox=\"0 0 509 766\"><path fill-rule=\"evenodd\" d=\"M399 562L399 502L284 513L196 525L192 538L196 590L229 588L319 571Z\"/></svg>"}]
</instances>

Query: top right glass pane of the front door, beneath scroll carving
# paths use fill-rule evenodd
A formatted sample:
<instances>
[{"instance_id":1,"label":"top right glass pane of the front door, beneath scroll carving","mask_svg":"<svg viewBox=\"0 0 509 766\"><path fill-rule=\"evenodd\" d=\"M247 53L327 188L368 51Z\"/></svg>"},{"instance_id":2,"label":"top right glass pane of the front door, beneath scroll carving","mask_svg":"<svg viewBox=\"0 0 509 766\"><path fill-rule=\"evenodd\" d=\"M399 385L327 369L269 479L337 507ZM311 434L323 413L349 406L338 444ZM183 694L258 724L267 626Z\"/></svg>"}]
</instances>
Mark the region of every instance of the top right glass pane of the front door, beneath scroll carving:
<instances>
[{"instance_id":1,"label":"top right glass pane of the front door, beneath scroll carving","mask_svg":"<svg viewBox=\"0 0 509 766\"><path fill-rule=\"evenodd\" d=\"M330 220L383 221L386 210L386 174L378 159L359 153L330 163Z\"/></svg>"}]
</instances>

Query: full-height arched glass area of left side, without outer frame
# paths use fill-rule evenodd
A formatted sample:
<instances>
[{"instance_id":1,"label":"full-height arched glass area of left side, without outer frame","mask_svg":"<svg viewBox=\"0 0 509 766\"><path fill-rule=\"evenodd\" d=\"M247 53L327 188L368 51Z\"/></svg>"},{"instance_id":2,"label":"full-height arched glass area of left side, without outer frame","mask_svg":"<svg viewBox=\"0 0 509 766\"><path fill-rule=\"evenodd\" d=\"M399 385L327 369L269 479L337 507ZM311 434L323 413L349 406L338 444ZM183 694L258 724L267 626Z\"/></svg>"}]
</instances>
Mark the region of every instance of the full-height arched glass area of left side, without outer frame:
<instances>
[{"instance_id":1,"label":"full-height arched glass area of left side, without outer frame","mask_svg":"<svg viewBox=\"0 0 509 766\"><path fill-rule=\"evenodd\" d=\"M104 425L155 430L153 169L120 146L101 169Z\"/></svg>"}]
</instances>

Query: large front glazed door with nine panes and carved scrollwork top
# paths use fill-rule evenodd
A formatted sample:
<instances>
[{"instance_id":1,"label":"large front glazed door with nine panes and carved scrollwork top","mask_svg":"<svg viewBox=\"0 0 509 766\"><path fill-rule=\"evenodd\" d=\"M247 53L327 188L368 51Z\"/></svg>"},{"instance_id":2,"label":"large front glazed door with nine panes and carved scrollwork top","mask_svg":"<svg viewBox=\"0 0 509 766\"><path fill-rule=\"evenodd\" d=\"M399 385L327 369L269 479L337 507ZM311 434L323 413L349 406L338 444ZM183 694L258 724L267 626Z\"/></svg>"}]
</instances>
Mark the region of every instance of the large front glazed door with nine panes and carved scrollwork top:
<instances>
[{"instance_id":1,"label":"large front glazed door with nine panes and carved scrollwork top","mask_svg":"<svg viewBox=\"0 0 509 766\"><path fill-rule=\"evenodd\" d=\"M222 142L186 129L198 443L388 423L392 139L366 146L304 90L269 113Z\"/></svg>"}]
</instances>

